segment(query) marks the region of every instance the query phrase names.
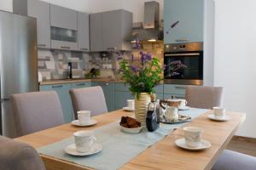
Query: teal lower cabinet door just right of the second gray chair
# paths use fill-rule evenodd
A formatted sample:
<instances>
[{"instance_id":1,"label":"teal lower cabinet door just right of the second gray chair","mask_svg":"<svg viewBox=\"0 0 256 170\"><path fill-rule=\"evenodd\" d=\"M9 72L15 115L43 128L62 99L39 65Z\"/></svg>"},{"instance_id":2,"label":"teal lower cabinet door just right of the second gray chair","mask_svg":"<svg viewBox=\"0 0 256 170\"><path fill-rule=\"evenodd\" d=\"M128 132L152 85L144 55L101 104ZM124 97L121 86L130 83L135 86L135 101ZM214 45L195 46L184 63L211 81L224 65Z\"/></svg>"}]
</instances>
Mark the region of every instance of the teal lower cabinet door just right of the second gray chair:
<instances>
[{"instance_id":1,"label":"teal lower cabinet door just right of the second gray chair","mask_svg":"<svg viewBox=\"0 0 256 170\"><path fill-rule=\"evenodd\" d=\"M106 99L108 111L114 111L114 83L94 82L95 86L101 86Z\"/></svg>"}]
</instances>

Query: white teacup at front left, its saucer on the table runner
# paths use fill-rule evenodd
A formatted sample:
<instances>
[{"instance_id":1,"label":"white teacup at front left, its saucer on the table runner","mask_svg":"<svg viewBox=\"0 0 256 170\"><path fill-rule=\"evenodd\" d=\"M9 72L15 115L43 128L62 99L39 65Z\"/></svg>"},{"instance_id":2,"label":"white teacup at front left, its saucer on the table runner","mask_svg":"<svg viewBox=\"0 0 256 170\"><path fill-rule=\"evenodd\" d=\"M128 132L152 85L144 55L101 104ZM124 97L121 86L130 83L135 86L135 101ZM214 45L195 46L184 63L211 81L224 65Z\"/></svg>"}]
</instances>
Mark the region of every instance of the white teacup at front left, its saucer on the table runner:
<instances>
[{"instance_id":1,"label":"white teacup at front left, its saucer on the table runner","mask_svg":"<svg viewBox=\"0 0 256 170\"><path fill-rule=\"evenodd\" d=\"M79 131L73 133L73 136L78 152L84 153L89 151L91 146L96 142L93 131Z\"/></svg>"}]
</instances>

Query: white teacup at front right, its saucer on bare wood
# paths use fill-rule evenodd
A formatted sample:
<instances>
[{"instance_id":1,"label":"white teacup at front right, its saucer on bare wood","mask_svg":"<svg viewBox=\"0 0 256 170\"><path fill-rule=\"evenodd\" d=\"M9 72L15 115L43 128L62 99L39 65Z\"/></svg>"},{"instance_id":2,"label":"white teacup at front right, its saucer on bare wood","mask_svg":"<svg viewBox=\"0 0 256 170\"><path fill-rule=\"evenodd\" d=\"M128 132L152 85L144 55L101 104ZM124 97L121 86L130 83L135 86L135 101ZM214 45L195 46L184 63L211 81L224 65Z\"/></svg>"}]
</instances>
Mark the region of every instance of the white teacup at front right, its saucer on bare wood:
<instances>
[{"instance_id":1,"label":"white teacup at front right, its saucer on bare wood","mask_svg":"<svg viewBox=\"0 0 256 170\"><path fill-rule=\"evenodd\" d=\"M201 144L201 133L200 127L184 127L184 138L186 144L191 148L197 148Z\"/></svg>"}]
</instances>

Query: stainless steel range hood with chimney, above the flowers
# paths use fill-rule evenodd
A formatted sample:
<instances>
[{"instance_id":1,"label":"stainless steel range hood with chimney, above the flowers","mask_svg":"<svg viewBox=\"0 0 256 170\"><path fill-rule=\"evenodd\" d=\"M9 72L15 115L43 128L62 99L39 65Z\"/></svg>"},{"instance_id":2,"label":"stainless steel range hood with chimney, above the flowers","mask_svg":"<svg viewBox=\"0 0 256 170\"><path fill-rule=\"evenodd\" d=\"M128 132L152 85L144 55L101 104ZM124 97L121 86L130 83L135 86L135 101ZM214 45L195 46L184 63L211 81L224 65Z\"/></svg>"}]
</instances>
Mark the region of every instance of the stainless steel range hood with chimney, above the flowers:
<instances>
[{"instance_id":1,"label":"stainless steel range hood with chimney, above the flowers","mask_svg":"<svg viewBox=\"0 0 256 170\"><path fill-rule=\"evenodd\" d=\"M155 1L144 5L144 22L133 24L131 42L159 42L163 40L163 26L160 26L160 5Z\"/></svg>"}]
</instances>

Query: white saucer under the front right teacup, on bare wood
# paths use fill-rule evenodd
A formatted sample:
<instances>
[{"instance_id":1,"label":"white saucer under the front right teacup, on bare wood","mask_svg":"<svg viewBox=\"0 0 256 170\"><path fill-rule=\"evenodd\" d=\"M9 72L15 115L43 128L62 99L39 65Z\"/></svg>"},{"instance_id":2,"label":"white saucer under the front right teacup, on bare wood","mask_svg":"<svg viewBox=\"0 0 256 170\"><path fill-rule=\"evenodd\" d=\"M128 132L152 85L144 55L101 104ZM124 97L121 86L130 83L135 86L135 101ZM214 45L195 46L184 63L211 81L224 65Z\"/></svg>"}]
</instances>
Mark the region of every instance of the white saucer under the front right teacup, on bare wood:
<instances>
[{"instance_id":1,"label":"white saucer under the front right teacup, on bare wood","mask_svg":"<svg viewBox=\"0 0 256 170\"><path fill-rule=\"evenodd\" d=\"M177 144L178 147L181 147L181 148L183 148L185 150L205 150L205 149L208 149L208 148L210 148L212 146L212 144L209 141L204 140L204 139L201 140L201 144L197 148L189 147L186 144L185 139L177 139L175 141L175 144Z\"/></svg>"}]
</instances>

